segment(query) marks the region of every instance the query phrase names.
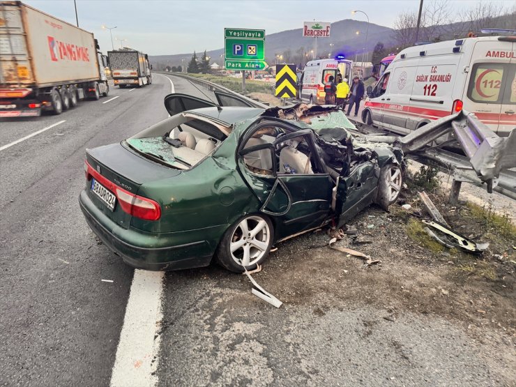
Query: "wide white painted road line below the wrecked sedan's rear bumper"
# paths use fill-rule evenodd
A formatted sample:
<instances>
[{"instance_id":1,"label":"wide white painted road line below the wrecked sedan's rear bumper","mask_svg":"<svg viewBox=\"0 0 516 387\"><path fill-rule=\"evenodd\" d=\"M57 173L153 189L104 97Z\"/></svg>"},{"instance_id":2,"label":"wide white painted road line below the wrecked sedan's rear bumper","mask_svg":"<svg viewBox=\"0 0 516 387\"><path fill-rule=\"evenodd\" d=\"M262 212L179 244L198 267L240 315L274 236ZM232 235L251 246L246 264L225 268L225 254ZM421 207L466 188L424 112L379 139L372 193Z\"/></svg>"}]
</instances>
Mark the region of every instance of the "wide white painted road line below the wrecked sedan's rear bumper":
<instances>
[{"instance_id":1,"label":"wide white painted road line below the wrecked sedan's rear bumper","mask_svg":"<svg viewBox=\"0 0 516 387\"><path fill-rule=\"evenodd\" d=\"M111 374L112 387L152 387L158 383L155 371L161 335L157 332L163 318L164 278L162 271L135 269Z\"/></svg>"}]
</instances>

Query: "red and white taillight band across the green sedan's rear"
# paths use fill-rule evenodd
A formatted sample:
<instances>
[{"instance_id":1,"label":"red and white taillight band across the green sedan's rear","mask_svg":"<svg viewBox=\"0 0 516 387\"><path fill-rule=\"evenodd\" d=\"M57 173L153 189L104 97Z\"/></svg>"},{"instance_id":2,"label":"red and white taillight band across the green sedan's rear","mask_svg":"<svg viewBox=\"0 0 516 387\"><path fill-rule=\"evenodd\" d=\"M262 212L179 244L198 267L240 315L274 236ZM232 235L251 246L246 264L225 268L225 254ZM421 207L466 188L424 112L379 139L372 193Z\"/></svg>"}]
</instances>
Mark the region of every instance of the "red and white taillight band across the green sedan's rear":
<instances>
[{"instance_id":1,"label":"red and white taillight band across the green sedan's rear","mask_svg":"<svg viewBox=\"0 0 516 387\"><path fill-rule=\"evenodd\" d=\"M144 220L158 220L161 217L161 207L154 200L124 190L99 174L87 161L84 161L84 169L87 180L91 180L91 177L93 177L114 193L123 212Z\"/></svg>"}]
</instances>

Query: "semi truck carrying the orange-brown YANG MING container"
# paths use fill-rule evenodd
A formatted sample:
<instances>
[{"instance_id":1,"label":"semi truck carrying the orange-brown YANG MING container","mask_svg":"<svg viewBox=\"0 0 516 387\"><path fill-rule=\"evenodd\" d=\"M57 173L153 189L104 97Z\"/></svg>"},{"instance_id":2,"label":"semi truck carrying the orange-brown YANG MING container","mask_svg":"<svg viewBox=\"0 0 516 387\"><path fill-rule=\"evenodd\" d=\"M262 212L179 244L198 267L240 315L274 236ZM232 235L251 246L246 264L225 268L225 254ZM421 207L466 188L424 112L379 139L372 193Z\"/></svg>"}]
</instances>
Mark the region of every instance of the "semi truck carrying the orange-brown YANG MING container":
<instances>
[{"instance_id":1,"label":"semi truck carrying the orange-brown YANG MING container","mask_svg":"<svg viewBox=\"0 0 516 387\"><path fill-rule=\"evenodd\" d=\"M107 60L98 50L93 33L0 0L0 117L61 114L107 96Z\"/></svg>"}]
</instances>

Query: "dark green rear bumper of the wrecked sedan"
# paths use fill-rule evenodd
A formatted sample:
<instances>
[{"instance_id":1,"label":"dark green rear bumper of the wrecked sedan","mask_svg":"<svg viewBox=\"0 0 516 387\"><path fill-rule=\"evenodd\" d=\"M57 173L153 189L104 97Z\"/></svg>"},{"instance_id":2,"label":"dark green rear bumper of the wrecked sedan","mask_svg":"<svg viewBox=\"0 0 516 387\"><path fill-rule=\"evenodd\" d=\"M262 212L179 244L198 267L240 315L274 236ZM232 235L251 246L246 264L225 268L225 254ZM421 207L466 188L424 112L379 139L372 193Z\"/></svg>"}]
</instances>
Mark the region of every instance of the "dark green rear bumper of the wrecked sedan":
<instances>
[{"instance_id":1,"label":"dark green rear bumper of the wrecked sedan","mask_svg":"<svg viewBox=\"0 0 516 387\"><path fill-rule=\"evenodd\" d=\"M91 202L84 190L79 195L79 204L86 222L100 240L126 264L145 270L172 271L208 266L227 227L150 234L116 225ZM195 239L197 234L199 240ZM211 239L208 241L206 237Z\"/></svg>"}]
</instances>

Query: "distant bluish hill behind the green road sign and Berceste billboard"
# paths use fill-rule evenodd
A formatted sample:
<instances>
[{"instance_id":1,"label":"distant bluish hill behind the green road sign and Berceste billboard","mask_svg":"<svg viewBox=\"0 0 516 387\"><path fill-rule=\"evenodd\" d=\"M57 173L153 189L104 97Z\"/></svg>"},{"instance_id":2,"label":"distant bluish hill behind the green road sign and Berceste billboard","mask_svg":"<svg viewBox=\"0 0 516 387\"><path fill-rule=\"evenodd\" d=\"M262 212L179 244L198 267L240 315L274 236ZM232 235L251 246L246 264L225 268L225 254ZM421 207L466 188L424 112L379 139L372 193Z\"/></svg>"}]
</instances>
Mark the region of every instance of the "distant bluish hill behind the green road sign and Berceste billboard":
<instances>
[{"instance_id":1,"label":"distant bluish hill behind the green road sign and Berceste billboard","mask_svg":"<svg viewBox=\"0 0 516 387\"><path fill-rule=\"evenodd\" d=\"M359 22L357 20L346 19L332 23L331 37L317 39L317 56L328 56L332 48L332 54L344 54L344 56L350 59L354 59L355 54L358 54L358 61L360 61L365 43L366 29L367 22ZM283 61L301 63L303 52L308 52L311 59L312 54L310 50L314 49L314 38L303 38L302 31L303 29L299 28L266 35L266 62L269 65L273 65L275 64L275 56L283 55ZM358 36L356 31L360 31ZM395 45L393 29L388 27L370 23L367 35L366 52L371 52L374 45L379 41L384 43L385 47ZM330 47L330 43L333 43L333 47ZM190 52L187 54L155 55L149 56L149 59L155 65L160 64L164 66L181 66L181 59L183 59L183 66L187 66L188 61L192 58L192 54ZM224 54L223 48L208 51L207 54L211 57L211 63L223 64L223 58L221 57ZM197 55L202 55L202 52L197 52Z\"/></svg>"}]
</instances>

